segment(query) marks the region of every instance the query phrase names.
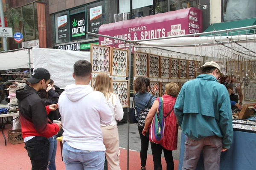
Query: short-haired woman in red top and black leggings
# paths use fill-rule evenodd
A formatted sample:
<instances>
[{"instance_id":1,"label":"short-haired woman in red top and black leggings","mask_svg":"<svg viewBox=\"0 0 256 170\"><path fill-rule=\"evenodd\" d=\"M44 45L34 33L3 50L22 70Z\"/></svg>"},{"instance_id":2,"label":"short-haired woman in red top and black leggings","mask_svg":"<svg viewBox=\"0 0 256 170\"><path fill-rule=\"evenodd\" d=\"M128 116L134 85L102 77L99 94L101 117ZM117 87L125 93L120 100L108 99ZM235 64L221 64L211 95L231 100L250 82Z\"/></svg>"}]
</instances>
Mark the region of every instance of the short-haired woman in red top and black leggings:
<instances>
[{"instance_id":1,"label":"short-haired woman in red top and black leggings","mask_svg":"<svg viewBox=\"0 0 256 170\"><path fill-rule=\"evenodd\" d=\"M151 150L154 161L154 170L162 170L161 155L164 153L166 160L167 170L174 170L174 161L172 157L172 150L177 150L177 138L178 138L178 124L174 114L174 105L176 98L180 92L180 88L176 83L169 83L166 85L166 91L163 95L163 116L165 116L165 127L163 134L163 141L160 144L151 143ZM143 129L143 135L148 132L148 126L158 109L159 97L154 101L145 121L145 127Z\"/></svg>"}]
</instances>

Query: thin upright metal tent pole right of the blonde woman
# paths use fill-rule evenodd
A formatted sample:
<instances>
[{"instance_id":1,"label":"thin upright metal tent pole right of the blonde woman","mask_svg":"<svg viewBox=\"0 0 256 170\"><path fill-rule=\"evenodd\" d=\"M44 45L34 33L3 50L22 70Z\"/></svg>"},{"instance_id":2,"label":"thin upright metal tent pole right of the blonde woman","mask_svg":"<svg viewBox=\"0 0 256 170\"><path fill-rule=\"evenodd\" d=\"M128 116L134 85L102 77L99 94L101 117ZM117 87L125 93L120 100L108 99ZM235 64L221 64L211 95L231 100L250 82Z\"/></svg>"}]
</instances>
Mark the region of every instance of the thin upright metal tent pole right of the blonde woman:
<instances>
[{"instance_id":1,"label":"thin upright metal tent pole right of the blonde woman","mask_svg":"<svg viewBox=\"0 0 256 170\"><path fill-rule=\"evenodd\" d=\"M131 42L129 43L129 71L128 71L128 80L129 80L129 95L131 95ZM130 97L129 97L130 99ZM130 102L129 102L130 103ZM128 106L128 114L127 114L127 125L128 125L128 133L127 133L127 170L129 170L129 148L130 148L130 123L129 123L129 108Z\"/></svg>"}]
</instances>

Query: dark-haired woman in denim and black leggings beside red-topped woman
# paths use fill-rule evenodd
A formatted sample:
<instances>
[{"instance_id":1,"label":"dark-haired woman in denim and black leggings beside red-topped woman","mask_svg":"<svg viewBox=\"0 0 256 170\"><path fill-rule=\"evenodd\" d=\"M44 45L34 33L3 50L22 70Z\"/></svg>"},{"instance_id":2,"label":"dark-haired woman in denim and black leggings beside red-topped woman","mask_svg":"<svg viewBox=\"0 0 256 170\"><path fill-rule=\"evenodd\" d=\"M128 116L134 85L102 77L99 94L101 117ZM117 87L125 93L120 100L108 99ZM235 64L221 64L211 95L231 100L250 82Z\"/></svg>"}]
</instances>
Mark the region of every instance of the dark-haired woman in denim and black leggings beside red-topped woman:
<instances>
[{"instance_id":1,"label":"dark-haired woman in denim and black leggings beside red-topped woman","mask_svg":"<svg viewBox=\"0 0 256 170\"><path fill-rule=\"evenodd\" d=\"M134 82L134 90L136 91L136 94L134 94L134 105L137 111L137 119L138 119L138 115L140 114L140 111L142 111L147 107L150 99L151 99L151 102L149 104L149 108L151 108L156 97L149 93L149 91L151 90L150 80L145 77L137 77L137 79ZM149 139L148 139L148 136L143 136L142 134L143 128L138 126L138 130L139 130L140 142L141 142L141 147L140 147L141 170L145 170L147 156L148 156Z\"/></svg>"}]
</instances>

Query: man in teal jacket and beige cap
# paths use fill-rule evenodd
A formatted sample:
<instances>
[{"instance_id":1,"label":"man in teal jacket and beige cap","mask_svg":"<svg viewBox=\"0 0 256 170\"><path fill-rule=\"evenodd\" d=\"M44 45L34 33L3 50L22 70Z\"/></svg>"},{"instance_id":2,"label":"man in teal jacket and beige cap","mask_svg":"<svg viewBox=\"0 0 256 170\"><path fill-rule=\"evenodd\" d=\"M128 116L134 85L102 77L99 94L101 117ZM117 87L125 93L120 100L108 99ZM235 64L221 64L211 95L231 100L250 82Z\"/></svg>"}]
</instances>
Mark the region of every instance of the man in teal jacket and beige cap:
<instances>
[{"instance_id":1,"label":"man in teal jacket and beige cap","mask_svg":"<svg viewBox=\"0 0 256 170\"><path fill-rule=\"evenodd\" d=\"M195 170L204 150L206 170L219 170L221 152L233 140L230 97L218 82L220 67L206 62L198 68L202 74L186 82L175 103L175 115L187 136L182 170Z\"/></svg>"}]
</instances>

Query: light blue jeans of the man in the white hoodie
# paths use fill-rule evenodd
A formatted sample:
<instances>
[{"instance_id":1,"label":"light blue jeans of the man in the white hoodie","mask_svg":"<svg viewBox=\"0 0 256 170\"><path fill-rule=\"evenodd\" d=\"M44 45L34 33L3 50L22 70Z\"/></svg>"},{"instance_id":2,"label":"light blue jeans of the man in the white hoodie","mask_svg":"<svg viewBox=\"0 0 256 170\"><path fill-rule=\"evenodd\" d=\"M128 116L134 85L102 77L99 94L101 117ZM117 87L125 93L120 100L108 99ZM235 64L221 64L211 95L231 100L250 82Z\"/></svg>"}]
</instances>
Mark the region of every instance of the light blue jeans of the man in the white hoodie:
<instances>
[{"instance_id":1,"label":"light blue jeans of the man in the white hoodie","mask_svg":"<svg viewBox=\"0 0 256 170\"><path fill-rule=\"evenodd\" d=\"M79 150L64 142L62 149L66 170L103 170L104 151Z\"/></svg>"}]
</instances>

